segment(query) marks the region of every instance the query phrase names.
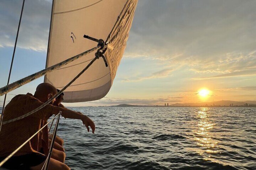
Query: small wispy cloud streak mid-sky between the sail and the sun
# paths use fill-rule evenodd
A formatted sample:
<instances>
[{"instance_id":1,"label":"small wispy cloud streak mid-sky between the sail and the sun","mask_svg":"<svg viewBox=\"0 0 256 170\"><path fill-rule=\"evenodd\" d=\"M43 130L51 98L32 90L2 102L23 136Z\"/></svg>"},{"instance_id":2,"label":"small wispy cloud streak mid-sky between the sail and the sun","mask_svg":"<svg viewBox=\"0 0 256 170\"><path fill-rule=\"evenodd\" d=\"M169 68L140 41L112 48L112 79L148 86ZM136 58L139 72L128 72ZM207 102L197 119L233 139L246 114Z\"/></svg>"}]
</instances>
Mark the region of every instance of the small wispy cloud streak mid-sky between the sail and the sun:
<instances>
[{"instance_id":1,"label":"small wispy cloud streak mid-sky between the sail and the sun","mask_svg":"<svg viewBox=\"0 0 256 170\"><path fill-rule=\"evenodd\" d=\"M133 79L124 79L123 81L124 82L137 82L137 81L142 81L142 80L146 80L146 79L163 78L163 77L169 76L172 71L173 71L173 69L164 69L164 70L160 70L158 72L152 73L150 76L133 78Z\"/></svg>"}]
</instances>

